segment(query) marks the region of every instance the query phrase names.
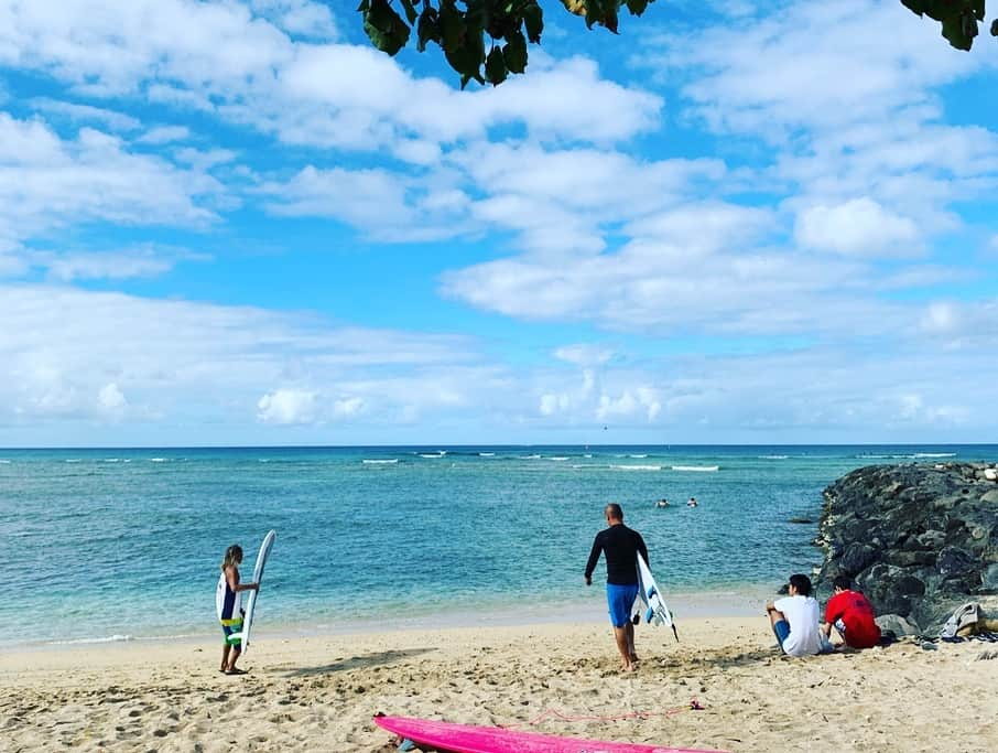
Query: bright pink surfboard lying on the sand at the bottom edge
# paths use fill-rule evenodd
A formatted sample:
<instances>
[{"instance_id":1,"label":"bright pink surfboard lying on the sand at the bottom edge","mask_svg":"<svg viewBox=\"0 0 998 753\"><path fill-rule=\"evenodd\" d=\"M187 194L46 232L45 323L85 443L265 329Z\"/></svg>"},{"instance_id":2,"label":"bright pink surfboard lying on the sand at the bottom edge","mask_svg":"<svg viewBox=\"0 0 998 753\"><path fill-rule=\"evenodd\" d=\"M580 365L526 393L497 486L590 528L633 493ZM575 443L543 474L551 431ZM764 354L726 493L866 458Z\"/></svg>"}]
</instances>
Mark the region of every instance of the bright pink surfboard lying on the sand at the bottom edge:
<instances>
[{"instance_id":1,"label":"bright pink surfboard lying on the sand at the bottom edge","mask_svg":"<svg viewBox=\"0 0 998 753\"><path fill-rule=\"evenodd\" d=\"M379 714L375 717L375 723L416 745L429 745L447 753L722 753L562 738L536 732L516 732L501 727L471 727L408 717Z\"/></svg>"}]
</instances>

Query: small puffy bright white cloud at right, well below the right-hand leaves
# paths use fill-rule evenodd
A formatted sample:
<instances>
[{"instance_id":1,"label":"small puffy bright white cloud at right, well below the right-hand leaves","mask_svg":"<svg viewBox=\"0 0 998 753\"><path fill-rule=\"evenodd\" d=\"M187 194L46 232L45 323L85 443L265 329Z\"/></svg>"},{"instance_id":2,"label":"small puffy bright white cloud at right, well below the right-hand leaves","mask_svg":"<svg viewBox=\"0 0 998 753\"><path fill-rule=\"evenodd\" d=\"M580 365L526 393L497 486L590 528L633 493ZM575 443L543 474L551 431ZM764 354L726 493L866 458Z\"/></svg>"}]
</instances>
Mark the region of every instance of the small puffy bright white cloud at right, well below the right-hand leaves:
<instances>
[{"instance_id":1,"label":"small puffy bright white cloud at right, well below the right-hand leaves","mask_svg":"<svg viewBox=\"0 0 998 753\"><path fill-rule=\"evenodd\" d=\"M794 235L806 247L847 256L911 256L920 250L915 224L867 196L803 209Z\"/></svg>"}]
</instances>

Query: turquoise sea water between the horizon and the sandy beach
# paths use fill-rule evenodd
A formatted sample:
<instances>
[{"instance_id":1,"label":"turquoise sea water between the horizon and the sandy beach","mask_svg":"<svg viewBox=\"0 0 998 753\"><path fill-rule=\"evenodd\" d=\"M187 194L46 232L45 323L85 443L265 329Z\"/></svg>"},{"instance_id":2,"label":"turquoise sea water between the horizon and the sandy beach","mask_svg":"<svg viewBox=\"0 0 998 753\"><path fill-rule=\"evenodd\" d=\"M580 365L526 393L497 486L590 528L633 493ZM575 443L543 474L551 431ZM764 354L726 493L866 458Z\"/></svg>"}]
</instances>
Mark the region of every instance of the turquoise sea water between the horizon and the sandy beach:
<instances>
[{"instance_id":1,"label":"turquoise sea water between the horizon and the sandy beach","mask_svg":"<svg viewBox=\"0 0 998 753\"><path fill-rule=\"evenodd\" d=\"M821 561L789 518L828 483L954 459L998 445L0 450L0 644L210 634L226 546L247 580L271 528L261 630L598 602L609 501L664 589L771 588Z\"/></svg>"}]
</instances>

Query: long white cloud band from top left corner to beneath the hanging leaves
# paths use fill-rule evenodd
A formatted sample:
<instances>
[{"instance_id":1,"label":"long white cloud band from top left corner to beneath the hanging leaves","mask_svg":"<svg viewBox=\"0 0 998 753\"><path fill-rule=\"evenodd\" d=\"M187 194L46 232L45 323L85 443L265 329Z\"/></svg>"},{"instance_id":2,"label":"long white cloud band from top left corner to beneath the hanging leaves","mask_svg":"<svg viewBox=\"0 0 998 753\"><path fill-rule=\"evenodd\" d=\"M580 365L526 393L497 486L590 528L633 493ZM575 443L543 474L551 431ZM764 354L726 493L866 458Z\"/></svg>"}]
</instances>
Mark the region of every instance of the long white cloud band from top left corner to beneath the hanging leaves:
<instances>
[{"instance_id":1,"label":"long white cloud band from top left corner to beneath the hanging leaves","mask_svg":"<svg viewBox=\"0 0 998 753\"><path fill-rule=\"evenodd\" d=\"M662 100L601 78L584 58L531 55L531 75L458 93L416 78L369 45L319 35L323 6L193 0L8 4L0 63L45 72L95 96L138 95L249 123L295 144L381 151L425 162L438 144L523 125L536 138L606 143L649 130ZM2 18L2 17L0 17ZM318 23L318 26L314 24ZM278 24L278 25L274 25Z\"/></svg>"}]
</instances>

